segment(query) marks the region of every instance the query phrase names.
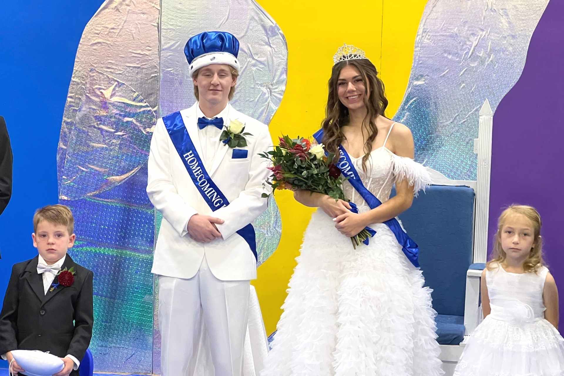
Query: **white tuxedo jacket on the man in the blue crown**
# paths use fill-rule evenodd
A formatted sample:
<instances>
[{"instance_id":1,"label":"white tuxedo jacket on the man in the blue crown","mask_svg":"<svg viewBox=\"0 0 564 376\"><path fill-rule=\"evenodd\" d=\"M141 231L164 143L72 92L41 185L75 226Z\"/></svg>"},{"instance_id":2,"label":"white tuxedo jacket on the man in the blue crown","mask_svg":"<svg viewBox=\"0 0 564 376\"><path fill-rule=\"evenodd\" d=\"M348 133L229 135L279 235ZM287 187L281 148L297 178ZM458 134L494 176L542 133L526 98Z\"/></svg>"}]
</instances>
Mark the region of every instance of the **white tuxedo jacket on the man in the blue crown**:
<instances>
[{"instance_id":1,"label":"white tuxedo jacket on the man in the blue crown","mask_svg":"<svg viewBox=\"0 0 564 376\"><path fill-rule=\"evenodd\" d=\"M219 145L213 160L202 155L197 127L196 102L191 108L180 111L188 134L213 182L227 197L230 205L212 211L197 191L181 157L178 155L168 131L160 118L151 139L148 161L147 194L156 209L162 213L152 272L157 275L192 278L200 268L204 254L211 272L222 281L252 280L257 277L257 263L247 242L236 233L253 222L266 209L267 199L262 193L270 193L263 183L270 175L270 166L257 154L270 150L272 139L268 127L230 107L231 120L245 124L248 151L246 158L232 158L233 149ZM217 140L218 143L219 138ZM266 187L270 187L266 185ZM211 215L223 219L217 228L223 238L208 243L192 240L188 235L188 220L194 214Z\"/></svg>"}]
</instances>

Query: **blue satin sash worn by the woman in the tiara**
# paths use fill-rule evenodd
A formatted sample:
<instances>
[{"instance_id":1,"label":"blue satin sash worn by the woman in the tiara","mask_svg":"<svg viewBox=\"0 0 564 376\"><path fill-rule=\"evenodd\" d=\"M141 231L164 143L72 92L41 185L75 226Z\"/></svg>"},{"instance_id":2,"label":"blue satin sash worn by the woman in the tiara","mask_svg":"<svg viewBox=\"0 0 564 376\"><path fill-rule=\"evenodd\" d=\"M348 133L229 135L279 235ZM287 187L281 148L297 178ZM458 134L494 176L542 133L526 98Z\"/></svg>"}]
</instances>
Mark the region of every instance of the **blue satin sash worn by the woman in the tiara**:
<instances>
[{"instance_id":1,"label":"blue satin sash worn by the woman in the tiara","mask_svg":"<svg viewBox=\"0 0 564 376\"><path fill-rule=\"evenodd\" d=\"M315 132L314 138L319 144L321 144L321 140L323 140L323 129ZM370 206L370 209L374 209L374 207L382 205L382 202L378 200L372 192L368 191L368 189L364 187L364 184L362 184L362 180L360 180L360 176L358 175L358 171L354 168L349 154L342 145L339 145L339 160L337 162L337 167L339 167L339 170L341 170L343 175L349 177L347 182L351 183L352 187L356 189L356 192L358 192L364 201L366 201L368 206ZM384 222L384 224L387 225L391 232L394 233L396 240L398 240L399 245L402 246L402 251L409 261L413 264L413 266L418 268L419 246L416 242L413 241L413 239L410 238L405 231L403 231L402 226L399 224L397 219L388 219Z\"/></svg>"}]
</instances>

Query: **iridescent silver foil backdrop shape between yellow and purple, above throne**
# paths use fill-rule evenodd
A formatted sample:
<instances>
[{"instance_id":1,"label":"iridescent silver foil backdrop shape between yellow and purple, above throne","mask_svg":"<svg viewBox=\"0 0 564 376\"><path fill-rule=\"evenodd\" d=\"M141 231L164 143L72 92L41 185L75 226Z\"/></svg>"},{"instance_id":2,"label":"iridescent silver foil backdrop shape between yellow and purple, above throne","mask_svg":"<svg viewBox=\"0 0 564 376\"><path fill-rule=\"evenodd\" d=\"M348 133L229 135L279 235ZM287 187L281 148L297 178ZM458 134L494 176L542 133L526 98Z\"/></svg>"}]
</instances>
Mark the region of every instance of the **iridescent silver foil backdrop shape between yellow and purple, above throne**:
<instances>
[{"instance_id":1,"label":"iridescent silver foil backdrop shape between yellow and purple, above throne","mask_svg":"<svg viewBox=\"0 0 564 376\"><path fill-rule=\"evenodd\" d=\"M548 0L431 0L415 41L409 86L394 120L409 126L415 158L448 178L475 180L478 112L493 111L525 66ZM495 124L493 124L495 127Z\"/></svg>"}]
</instances>

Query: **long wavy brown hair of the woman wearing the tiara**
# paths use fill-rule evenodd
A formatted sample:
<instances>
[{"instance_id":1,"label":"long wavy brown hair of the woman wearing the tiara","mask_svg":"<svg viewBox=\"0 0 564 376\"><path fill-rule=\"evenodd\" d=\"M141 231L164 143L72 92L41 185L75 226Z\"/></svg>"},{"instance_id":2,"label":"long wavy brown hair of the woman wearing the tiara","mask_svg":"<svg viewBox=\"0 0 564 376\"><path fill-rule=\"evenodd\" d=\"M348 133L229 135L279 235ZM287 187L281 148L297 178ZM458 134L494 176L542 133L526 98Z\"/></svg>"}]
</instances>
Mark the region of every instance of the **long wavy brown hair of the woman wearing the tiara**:
<instances>
[{"instance_id":1,"label":"long wavy brown hair of the woman wearing the tiara","mask_svg":"<svg viewBox=\"0 0 564 376\"><path fill-rule=\"evenodd\" d=\"M349 124L349 109L345 107L339 100L337 81L341 70L346 65L352 65L360 72L360 76L364 80L364 105L367 108L366 117L363 125L367 125L370 135L364 143L364 157L362 158L362 167L366 171L365 163L372 152L372 141L378 134L376 128L376 118L378 115L384 115L388 101L384 96L384 83L378 78L378 71L374 64L368 59L355 59L341 61L333 65L331 78L329 78L329 95L327 97L327 107L325 108L325 118L321 122L323 127L323 144L327 151L335 153L338 156L338 147L345 139L342 127ZM364 127L363 127L364 132Z\"/></svg>"}]
</instances>

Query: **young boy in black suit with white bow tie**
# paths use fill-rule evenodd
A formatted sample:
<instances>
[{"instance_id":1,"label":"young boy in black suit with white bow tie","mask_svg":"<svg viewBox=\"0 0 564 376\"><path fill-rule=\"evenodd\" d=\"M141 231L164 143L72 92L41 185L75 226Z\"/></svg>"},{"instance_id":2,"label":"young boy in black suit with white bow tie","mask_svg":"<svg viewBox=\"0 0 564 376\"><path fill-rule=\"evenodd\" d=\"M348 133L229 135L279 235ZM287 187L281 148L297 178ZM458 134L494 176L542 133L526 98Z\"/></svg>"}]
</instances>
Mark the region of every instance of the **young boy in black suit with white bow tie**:
<instances>
[{"instance_id":1,"label":"young boy in black suit with white bow tie","mask_svg":"<svg viewBox=\"0 0 564 376\"><path fill-rule=\"evenodd\" d=\"M33 245L39 254L17 263L0 313L0 355L12 350L41 350L61 357L55 376L78 376L92 337L92 272L73 262L74 219L67 206L51 205L33 216ZM73 323L74 321L74 323ZM14 371L23 372L12 363Z\"/></svg>"}]
</instances>

